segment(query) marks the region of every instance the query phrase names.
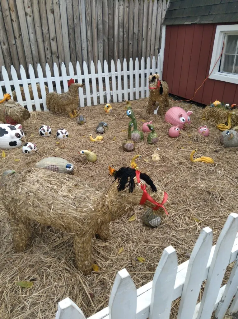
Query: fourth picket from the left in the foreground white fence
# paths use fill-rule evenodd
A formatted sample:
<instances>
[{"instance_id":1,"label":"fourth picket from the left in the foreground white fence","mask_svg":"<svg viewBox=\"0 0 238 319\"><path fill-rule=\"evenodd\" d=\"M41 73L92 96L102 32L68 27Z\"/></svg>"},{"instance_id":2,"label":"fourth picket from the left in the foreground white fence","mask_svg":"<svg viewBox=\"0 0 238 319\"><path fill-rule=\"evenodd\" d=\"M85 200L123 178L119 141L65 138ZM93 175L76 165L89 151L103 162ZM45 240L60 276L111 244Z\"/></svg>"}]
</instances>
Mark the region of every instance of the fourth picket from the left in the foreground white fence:
<instances>
[{"instance_id":1,"label":"fourth picket from the left in the foreground white fence","mask_svg":"<svg viewBox=\"0 0 238 319\"><path fill-rule=\"evenodd\" d=\"M202 229L189 259L177 319L191 319L194 314L212 244L212 229L205 227Z\"/></svg>"}]
</instances>

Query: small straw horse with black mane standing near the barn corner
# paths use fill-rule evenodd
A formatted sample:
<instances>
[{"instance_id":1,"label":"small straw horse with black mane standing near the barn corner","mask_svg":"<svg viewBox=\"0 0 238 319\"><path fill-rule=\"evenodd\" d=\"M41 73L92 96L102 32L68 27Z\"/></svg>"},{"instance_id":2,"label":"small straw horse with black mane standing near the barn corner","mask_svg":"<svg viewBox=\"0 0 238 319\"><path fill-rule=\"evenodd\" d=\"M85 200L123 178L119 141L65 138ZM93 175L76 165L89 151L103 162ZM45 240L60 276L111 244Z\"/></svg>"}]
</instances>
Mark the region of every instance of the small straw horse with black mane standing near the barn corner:
<instances>
[{"instance_id":1,"label":"small straw horse with black mane standing near the barn corner","mask_svg":"<svg viewBox=\"0 0 238 319\"><path fill-rule=\"evenodd\" d=\"M159 103L159 114L165 114L165 108L169 107L169 86L167 82L159 79L159 74L149 76L149 99L146 108L147 113L156 109L155 103Z\"/></svg>"}]
</instances>

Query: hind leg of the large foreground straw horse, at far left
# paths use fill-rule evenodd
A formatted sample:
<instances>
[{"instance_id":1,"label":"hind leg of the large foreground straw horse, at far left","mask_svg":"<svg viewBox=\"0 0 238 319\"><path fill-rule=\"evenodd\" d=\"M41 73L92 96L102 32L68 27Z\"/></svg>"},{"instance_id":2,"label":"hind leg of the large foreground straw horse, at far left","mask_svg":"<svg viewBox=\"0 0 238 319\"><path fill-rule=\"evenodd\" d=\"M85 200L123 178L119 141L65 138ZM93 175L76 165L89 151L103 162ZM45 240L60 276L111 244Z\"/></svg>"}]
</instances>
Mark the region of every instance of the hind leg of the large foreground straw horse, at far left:
<instances>
[{"instance_id":1,"label":"hind leg of the large foreground straw horse, at far left","mask_svg":"<svg viewBox=\"0 0 238 319\"><path fill-rule=\"evenodd\" d=\"M17 252L22 252L26 249L30 237L31 228L30 222L11 216L12 240Z\"/></svg>"}]
</instances>

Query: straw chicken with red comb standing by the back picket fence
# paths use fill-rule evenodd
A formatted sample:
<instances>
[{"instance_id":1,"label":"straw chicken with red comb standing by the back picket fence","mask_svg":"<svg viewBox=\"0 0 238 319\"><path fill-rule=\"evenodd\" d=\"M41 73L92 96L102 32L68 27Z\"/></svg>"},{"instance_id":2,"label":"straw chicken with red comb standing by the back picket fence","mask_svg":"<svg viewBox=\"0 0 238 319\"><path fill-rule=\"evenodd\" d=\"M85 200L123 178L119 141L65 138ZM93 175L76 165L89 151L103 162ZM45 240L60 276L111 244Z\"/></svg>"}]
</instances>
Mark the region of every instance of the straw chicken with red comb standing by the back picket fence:
<instances>
[{"instance_id":1,"label":"straw chicken with red comb standing by the back picket fence","mask_svg":"<svg viewBox=\"0 0 238 319\"><path fill-rule=\"evenodd\" d=\"M79 106L78 88L83 87L81 83L72 83L69 91L59 94L51 92L46 95L47 108L56 114L69 114Z\"/></svg>"}]
</instances>

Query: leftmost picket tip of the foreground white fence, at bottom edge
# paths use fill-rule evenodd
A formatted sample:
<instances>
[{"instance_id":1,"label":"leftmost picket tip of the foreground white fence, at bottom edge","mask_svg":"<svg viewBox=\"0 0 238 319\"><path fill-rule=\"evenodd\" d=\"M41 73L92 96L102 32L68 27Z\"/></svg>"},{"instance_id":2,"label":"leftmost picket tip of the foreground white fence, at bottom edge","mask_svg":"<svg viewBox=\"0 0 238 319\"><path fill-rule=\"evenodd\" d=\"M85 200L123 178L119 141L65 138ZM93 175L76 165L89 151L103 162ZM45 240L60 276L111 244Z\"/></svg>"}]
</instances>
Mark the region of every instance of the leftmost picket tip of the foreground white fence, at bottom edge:
<instances>
[{"instance_id":1,"label":"leftmost picket tip of the foreground white fence, at bottom edge","mask_svg":"<svg viewBox=\"0 0 238 319\"><path fill-rule=\"evenodd\" d=\"M58 311L55 319L85 319L80 308L69 298L65 298L58 302Z\"/></svg>"}]
</instances>

